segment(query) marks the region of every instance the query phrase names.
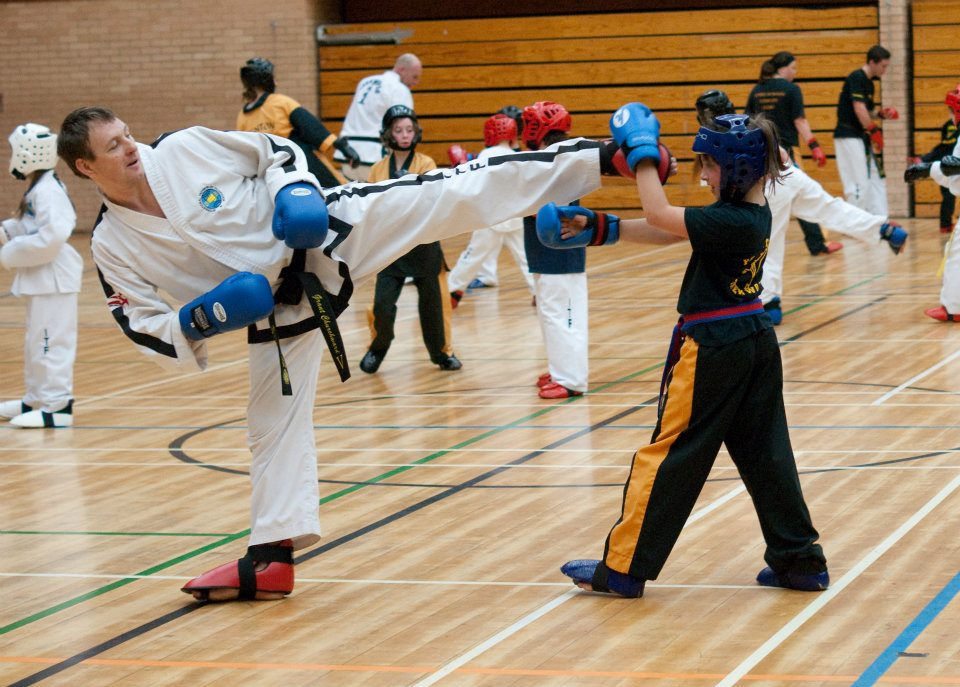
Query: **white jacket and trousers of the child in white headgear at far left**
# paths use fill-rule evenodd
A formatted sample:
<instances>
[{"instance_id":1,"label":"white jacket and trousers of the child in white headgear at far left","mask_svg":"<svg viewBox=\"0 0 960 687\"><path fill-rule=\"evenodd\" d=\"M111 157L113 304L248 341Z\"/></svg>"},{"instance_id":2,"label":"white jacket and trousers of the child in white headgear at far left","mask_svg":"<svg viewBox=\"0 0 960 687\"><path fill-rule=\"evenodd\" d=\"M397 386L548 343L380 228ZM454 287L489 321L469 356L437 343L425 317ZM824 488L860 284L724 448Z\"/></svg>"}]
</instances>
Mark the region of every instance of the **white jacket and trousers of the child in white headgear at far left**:
<instances>
[{"instance_id":1,"label":"white jacket and trousers of the child in white headgear at far left","mask_svg":"<svg viewBox=\"0 0 960 687\"><path fill-rule=\"evenodd\" d=\"M23 217L3 221L11 238L0 248L0 264L17 271L11 291L27 300L23 402L54 413L73 398L83 259L67 239L77 215L53 170L24 199Z\"/></svg>"}]
</instances>

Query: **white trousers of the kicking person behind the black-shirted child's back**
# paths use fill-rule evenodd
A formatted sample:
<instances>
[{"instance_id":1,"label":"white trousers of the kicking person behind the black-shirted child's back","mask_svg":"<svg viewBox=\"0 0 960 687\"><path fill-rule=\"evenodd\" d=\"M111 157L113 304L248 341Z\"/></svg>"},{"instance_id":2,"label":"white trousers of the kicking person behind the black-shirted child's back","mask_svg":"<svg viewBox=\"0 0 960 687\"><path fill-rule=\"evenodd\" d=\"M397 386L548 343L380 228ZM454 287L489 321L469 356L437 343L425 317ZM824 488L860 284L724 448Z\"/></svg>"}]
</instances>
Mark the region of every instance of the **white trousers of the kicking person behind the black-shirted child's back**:
<instances>
[{"instance_id":1,"label":"white trousers of the kicking person behind the black-shirted child's back","mask_svg":"<svg viewBox=\"0 0 960 687\"><path fill-rule=\"evenodd\" d=\"M887 221L886 217L872 215L831 196L797 167L790 168L782 184L767 184L767 202L773 224L760 280L763 284L760 300L764 303L783 296L783 260L791 216L868 243L880 243L880 225Z\"/></svg>"}]
</instances>

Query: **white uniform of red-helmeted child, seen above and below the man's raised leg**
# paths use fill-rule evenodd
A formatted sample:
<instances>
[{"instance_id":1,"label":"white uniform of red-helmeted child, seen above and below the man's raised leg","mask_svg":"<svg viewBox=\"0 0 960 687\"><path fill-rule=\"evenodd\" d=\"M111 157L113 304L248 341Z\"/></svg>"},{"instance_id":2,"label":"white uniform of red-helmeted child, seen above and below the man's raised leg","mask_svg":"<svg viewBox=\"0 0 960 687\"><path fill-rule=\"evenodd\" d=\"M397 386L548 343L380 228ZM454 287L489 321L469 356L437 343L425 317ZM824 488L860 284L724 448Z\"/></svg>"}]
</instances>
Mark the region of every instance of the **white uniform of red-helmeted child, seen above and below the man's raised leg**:
<instances>
[{"instance_id":1,"label":"white uniform of red-helmeted child, seen above and below the man's raised leg","mask_svg":"<svg viewBox=\"0 0 960 687\"><path fill-rule=\"evenodd\" d=\"M502 144L484 148L477 155L477 159L486 160L490 157L513 153L514 150L504 141ZM470 243L460 254L457 264L447 278L450 291L463 291L474 277L480 278L487 286L496 286L496 260L504 246L513 254L513 259L516 260L517 267L520 268L520 273L527 282L527 288L533 293L533 275L527 267L527 253L523 248L523 218L521 217L508 219L506 222L473 232ZM486 269L490 259L493 261L492 271ZM484 280L483 276L487 276L489 281Z\"/></svg>"}]
</instances>

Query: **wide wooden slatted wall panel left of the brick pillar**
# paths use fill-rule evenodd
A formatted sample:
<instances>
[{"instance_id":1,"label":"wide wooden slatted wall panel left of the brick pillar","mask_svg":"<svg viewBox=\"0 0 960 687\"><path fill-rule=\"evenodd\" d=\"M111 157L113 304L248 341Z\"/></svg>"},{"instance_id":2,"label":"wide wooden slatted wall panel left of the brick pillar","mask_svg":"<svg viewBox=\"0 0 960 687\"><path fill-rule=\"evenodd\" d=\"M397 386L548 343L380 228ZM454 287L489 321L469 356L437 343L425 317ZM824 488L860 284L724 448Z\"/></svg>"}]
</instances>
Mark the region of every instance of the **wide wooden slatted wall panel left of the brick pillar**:
<instances>
[{"instance_id":1,"label":"wide wooden slatted wall panel left of the brick pillar","mask_svg":"<svg viewBox=\"0 0 960 687\"><path fill-rule=\"evenodd\" d=\"M414 52L424 64L414 92L424 129L420 150L438 164L447 164L452 143L482 148L484 120L504 105L556 100L573 115L573 134L603 138L610 113L640 100L658 113L664 142L680 160L680 174L667 187L671 199L707 203L709 192L692 178L696 97L723 88L742 107L763 60L789 50L799 60L807 117L832 157L837 96L846 75L878 42L878 16L875 4L762 7L357 23L325 26L324 32L333 38L406 36L399 45L321 44L321 116L333 130L357 81L390 68L399 53ZM828 191L840 192L832 160L814 174ZM605 182L587 202L627 216L639 208L635 190L617 180Z\"/></svg>"}]
</instances>

